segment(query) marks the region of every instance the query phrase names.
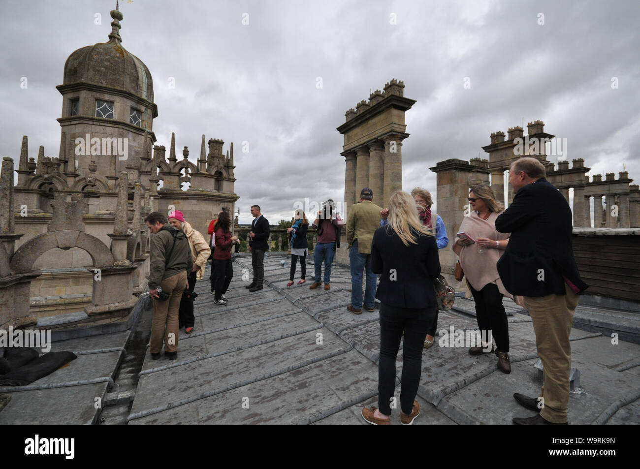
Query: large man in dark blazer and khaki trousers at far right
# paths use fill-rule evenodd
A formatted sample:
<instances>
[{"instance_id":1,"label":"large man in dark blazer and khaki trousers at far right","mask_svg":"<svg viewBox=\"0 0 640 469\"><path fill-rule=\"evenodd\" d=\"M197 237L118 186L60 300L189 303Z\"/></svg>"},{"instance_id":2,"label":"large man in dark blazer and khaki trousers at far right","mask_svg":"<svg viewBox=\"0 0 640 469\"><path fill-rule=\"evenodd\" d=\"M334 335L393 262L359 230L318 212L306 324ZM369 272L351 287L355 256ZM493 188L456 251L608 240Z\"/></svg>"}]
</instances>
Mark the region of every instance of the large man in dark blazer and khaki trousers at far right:
<instances>
[{"instance_id":1,"label":"large man in dark blazer and khaki trousers at far right","mask_svg":"<svg viewBox=\"0 0 640 469\"><path fill-rule=\"evenodd\" d=\"M534 417L514 418L518 425L567 423L569 333L578 295L588 288L573 257L571 209L545 176L537 159L515 161L509 168L515 197L495 220L496 230L511 233L498 273L511 294L524 296L543 366L541 398L513 395L525 408L540 411Z\"/></svg>"}]
</instances>

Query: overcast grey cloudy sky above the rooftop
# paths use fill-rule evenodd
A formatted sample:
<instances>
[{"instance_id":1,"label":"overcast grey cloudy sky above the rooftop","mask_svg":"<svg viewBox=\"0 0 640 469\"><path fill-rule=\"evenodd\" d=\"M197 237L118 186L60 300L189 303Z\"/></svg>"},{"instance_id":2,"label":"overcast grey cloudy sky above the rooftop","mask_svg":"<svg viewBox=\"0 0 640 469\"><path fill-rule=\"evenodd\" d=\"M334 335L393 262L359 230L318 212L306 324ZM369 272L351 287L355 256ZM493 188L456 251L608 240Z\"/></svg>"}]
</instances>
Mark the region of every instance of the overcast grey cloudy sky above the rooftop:
<instances>
[{"instance_id":1,"label":"overcast grey cloudy sky above the rooftop","mask_svg":"<svg viewBox=\"0 0 640 469\"><path fill-rule=\"evenodd\" d=\"M0 155L17 166L28 135L29 156L39 145L58 156L55 86L71 52L108 41L114 7L3 1ZM277 223L305 197L343 200L335 129L392 78L417 100L406 113L405 190L423 186L435 199L429 167L484 157L489 134L523 118L566 138L566 158L584 158L589 175L618 177L624 164L640 180L637 1L124 0L120 11L123 46L154 79L156 145L168 155L175 132L195 163L202 134L225 151L233 141L241 223L253 203Z\"/></svg>"}]
</instances>

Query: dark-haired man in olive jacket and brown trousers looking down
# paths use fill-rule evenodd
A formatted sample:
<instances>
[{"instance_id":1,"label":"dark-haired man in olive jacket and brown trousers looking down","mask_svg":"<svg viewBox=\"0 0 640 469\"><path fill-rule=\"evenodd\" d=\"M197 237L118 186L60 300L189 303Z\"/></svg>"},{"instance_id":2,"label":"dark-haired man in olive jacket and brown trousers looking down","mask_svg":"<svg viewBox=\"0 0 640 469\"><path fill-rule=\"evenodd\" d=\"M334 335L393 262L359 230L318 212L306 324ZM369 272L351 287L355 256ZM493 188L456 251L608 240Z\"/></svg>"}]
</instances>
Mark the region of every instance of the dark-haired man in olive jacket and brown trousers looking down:
<instances>
[{"instance_id":1,"label":"dark-haired man in olive jacket and brown trousers looking down","mask_svg":"<svg viewBox=\"0 0 640 469\"><path fill-rule=\"evenodd\" d=\"M182 291L187 288L187 273L193 268L189 241L180 230L169 225L160 212L151 212L145 218L151 237L149 296L154 299L154 319L151 324L149 351L154 360L160 358L164 340L164 356L177 358L178 310ZM175 235L175 237L174 237ZM162 300L158 287L169 296Z\"/></svg>"}]
</instances>

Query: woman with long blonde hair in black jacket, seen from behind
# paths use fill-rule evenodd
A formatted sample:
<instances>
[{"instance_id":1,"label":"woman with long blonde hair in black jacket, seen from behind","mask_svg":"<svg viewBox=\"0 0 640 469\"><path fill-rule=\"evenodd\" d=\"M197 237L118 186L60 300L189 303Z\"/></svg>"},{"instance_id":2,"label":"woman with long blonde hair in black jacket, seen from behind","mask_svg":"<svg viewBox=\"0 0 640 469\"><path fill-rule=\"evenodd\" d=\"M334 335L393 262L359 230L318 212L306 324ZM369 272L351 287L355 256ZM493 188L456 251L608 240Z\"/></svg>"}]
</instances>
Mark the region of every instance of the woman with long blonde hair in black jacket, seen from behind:
<instances>
[{"instance_id":1,"label":"woman with long blonde hair in black jacket, seen from behind","mask_svg":"<svg viewBox=\"0 0 640 469\"><path fill-rule=\"evenodd\" d=\"M380 409L362 409L362 417L369 424L390 424L396 356L404 331L400 420L410 425L420 413L415 395L422 372L424 337L438 311L433 280L440 275L440 260L435 236L422 225L412 196L396 191L388 207L388 224L376 230L371 243L371 269L381 274L376 292L380 300Z\"/></svg>"}]
</instances>

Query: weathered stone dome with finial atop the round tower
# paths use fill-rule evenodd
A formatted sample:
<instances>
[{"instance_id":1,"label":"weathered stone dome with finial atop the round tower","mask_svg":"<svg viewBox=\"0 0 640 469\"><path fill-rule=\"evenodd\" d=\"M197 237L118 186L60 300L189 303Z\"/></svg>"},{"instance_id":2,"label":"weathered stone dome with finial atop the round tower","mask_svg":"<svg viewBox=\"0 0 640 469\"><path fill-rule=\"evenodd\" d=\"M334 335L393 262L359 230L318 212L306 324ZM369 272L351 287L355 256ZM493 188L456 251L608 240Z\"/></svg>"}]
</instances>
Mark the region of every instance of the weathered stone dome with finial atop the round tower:
<instances>
[{"instance_id":1,"label":"weathered stone dome with finial atop the round tower","mask_svg":"<svg viewBox=\"0 0 640 469\"><path fill-rule=\"evenodd\" d=\"M154 101L154 84L147 66L122 47L122 13L111 10L111 34L108 42L87 45L73 52L65 63L63 84L90 83L129 91Z\"/></svg>"}]
</instances>

